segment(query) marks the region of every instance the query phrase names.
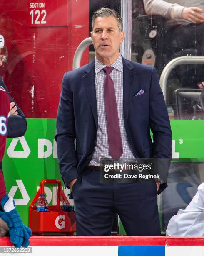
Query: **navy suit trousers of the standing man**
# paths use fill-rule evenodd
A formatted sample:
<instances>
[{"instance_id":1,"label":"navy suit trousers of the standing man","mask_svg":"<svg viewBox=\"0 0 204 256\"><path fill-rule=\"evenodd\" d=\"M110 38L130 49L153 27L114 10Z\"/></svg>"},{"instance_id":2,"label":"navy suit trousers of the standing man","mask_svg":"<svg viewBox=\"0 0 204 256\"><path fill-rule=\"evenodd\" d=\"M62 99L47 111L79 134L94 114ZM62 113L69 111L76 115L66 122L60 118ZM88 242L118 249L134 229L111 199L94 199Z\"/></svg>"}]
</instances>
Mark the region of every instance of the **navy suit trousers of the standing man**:
<instances>
[{"instance_id":1,"label":"navy suit trousers of the standing man","mask_svg":"<svg viewBox=\"0 0 204 256\"><path fill-rule=\"evenodd\" d=\"M85 169L72 187L77 236L110 236L117 212L127 236L160 236L156 184L99 182Z\"/></svg>"}]
</instances>

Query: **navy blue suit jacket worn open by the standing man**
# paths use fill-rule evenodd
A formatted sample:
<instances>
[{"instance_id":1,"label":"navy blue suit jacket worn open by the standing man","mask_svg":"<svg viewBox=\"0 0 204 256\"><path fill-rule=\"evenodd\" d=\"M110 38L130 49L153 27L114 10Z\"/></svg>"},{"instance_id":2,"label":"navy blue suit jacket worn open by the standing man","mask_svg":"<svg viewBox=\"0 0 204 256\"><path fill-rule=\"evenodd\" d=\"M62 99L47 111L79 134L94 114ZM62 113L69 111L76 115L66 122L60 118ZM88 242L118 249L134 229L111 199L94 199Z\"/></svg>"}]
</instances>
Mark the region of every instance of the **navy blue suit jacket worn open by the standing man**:
<instances>
[{"instance_id":1,"label":"navy blue suit jacket worn open by the standing man","mask_svg":"<svg viewBox=\"0 0 204 256\"><path fill-rule=\"evenodd\" d=\"M133 154L136 158L171 159L172 132L156 69L124 58L122 61L124 125ZM135 96L141 89L145 93ZM92 61L65 73L62 81L55 139L60 173L66 186L90 163L97 125Z\"/></svg>"}]
</instances>

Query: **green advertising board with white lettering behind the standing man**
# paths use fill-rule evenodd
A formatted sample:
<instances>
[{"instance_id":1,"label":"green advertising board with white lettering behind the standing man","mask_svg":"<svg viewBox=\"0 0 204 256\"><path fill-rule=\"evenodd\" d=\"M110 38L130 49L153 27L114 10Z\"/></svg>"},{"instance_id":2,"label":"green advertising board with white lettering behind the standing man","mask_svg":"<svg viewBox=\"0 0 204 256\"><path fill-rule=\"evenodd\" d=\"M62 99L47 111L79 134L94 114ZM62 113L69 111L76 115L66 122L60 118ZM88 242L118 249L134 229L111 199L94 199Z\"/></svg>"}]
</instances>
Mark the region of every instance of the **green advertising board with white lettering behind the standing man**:
<instances>
[{"instance_id":1,"label":"green advertising board with white lettering behind the standing man","mask_svg":"<svg viewBox=\"0 0 204 256\"><path fill-rule=\"evenodd\" d=\"M13 196L22 220L28 225L29 205L42 179L61 179L54 140L55 119L27 119L20 138L7 139L3 173L7 193ZM204 159L204 121L171 120L172 158ZM65 194L69 189L63 190ZM56 202L56 185L45 189L47 201Z\"/></svg>"}]
</instances>

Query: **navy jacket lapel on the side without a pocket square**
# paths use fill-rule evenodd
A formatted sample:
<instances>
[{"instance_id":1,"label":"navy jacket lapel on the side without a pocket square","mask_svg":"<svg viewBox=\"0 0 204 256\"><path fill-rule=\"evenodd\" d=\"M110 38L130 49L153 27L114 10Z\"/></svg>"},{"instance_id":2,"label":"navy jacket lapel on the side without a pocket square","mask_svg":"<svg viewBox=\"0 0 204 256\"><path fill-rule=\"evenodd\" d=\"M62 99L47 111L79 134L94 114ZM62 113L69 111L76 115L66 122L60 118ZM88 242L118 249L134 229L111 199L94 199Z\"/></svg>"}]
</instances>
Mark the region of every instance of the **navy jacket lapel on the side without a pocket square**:
<instances>
[{"instance_id":1,"label":"navy jacket lapel on the side without a pocket square","mask_svg":"<svg viewBox=\"0 0 204 256\"><path fill-rule=\"evenodd\" d=\"M97 114L97 101L96 101L96 86L95 86L95 70L94 60L87 65L85 69L86 74L82 77L82 81L87 93L87 97L90 103L90 107L93 113L96 127L98 126L98 114Z\"/></svg>"}]
</instances>

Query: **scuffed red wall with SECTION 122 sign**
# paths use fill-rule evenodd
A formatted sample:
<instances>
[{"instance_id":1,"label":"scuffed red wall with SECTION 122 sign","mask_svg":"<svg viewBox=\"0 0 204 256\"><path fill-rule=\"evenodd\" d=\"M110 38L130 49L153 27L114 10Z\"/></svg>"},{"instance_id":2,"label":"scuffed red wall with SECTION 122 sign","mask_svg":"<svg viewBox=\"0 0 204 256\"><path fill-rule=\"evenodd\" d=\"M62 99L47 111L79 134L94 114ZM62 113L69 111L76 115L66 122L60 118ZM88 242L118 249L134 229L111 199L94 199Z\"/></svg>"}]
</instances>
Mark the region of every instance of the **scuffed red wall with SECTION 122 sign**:
<instances>
[{"instance_id":1,"label":"scuffed red wall with SECTION 122 sign","mask_svg":"<svg viewBox=\"0 0 204 256\"><path fill-rule=\"evenodd\" d=\"M30 27L29 1L0 1L0 33L9 52L0 74L26 118L56 118L63 74L72 70L75 50L89 36L88 0L45 0L47 15L53 1L53 24L42 27ZM54 26L60 15L67 15L68 26ZM87 63L88 49L81 65Z\"/></svg>"}]
</instances>

